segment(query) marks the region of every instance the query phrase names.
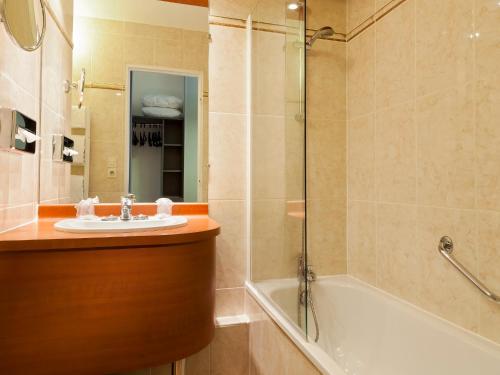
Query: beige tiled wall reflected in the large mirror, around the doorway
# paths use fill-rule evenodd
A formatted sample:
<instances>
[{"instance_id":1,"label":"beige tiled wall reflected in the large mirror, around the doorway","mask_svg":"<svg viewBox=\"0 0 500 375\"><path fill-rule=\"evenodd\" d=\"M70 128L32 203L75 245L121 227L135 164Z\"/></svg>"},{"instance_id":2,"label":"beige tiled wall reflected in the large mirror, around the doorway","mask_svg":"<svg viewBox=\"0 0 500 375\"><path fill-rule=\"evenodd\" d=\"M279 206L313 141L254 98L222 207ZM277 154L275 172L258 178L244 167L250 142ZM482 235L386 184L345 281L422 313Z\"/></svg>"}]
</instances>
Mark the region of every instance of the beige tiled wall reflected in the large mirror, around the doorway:
<instances>
[{"instance_id":1,"label":"beige tiled wall reflected in the large mirror, around the doorway","mask_svg":"<svg viewBox=\"0 0 500 375\"><path fill-rule=\"evenodd\" d=\"M127 65L158 66L202 71L207 90L207 33L77 17L75 41L74 80L85 68L87 82L125 85ZM102 202L118 202L124 194L125 100L121 92L112 90L88 89L85 93L91 126L89 194L98 195ZM206 126L208 98L204 101ZM113 161L117 173L109 178L107 166Z\"/></svg>"}]
</instances>

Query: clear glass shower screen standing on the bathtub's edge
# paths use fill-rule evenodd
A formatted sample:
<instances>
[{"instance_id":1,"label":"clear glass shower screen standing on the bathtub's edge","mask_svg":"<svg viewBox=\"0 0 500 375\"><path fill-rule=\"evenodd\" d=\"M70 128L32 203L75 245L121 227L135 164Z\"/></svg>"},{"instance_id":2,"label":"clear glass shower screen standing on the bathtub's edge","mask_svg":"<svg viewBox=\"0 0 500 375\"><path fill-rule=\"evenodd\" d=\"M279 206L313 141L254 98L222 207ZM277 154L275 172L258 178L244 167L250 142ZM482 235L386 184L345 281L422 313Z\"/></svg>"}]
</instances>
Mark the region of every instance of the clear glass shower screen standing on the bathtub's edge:
<instances>
[{"instance_id":1,"label":"clear glass shower screen standing on the bathtub's edge","mask_svg":"<svg viewBox=\"0 0 500 375\"><path fill-rule=\"evenodd\" d=\"M307 333L305 6L252 13L251 278Z\"/></svg>"}]
</instances>

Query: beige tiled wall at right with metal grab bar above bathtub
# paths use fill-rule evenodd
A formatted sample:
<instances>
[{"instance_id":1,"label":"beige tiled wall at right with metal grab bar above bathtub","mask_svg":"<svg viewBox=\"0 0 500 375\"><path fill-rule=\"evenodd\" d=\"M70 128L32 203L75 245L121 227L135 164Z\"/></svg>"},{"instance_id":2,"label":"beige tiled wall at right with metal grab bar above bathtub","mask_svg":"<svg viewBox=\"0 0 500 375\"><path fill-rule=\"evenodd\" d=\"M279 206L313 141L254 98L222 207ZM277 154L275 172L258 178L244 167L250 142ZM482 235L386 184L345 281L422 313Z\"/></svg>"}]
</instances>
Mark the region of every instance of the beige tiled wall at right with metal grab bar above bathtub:
<instances>
[{"instance_id":1,"label":"beige tiled wall at right with metal grab bar above bathtub","mask_svg":"<svg viewBox=\"0 0 500 375\"><path fill-rule=\"evenodd\" d=\"M386 3L349 1L349 29ZM348 42L349 273L500 342L500 306L437 251L500 290L500 7L397 3Z\"/></svg>"}]
</instances>

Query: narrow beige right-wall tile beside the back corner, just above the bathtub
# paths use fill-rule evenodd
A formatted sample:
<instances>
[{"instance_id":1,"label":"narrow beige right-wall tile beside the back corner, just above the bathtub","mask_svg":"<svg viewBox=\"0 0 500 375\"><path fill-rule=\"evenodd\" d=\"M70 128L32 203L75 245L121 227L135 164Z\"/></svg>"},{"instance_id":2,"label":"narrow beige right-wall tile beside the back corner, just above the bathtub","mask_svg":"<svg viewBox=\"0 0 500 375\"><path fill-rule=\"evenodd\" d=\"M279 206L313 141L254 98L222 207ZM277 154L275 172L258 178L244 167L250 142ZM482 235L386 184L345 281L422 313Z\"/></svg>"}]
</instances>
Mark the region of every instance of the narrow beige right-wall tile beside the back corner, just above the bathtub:
<instances>
[{"instance_id":1,"label":"narrow beige right-wall tile beside the back corner, just above the bathtub","mask_svg":"<svg viewBox=\"0 0 500 375\"><path fill-rule=\"evenodd\" d=\"M377 283L375 203L349 202L349 274L372 285Z\"/></svg>"}]
</instances>

